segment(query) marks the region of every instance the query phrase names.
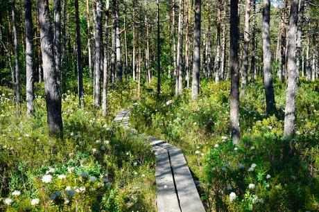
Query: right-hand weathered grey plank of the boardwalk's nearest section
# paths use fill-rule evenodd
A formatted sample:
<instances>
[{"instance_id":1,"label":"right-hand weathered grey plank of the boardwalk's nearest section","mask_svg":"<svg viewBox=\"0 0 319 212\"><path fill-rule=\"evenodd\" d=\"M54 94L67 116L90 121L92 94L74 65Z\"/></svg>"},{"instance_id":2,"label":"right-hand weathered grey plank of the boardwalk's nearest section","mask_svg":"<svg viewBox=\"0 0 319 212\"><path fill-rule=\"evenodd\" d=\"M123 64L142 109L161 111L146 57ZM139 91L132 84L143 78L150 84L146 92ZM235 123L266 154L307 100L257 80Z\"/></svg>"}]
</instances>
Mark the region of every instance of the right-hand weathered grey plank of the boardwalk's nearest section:
<instances>
[{"instance_id":1,"label":"right-hand weathered grey plank of the boardwalk's nearest section","mask_svg":"<svg viewBox=\"0 0 319 212\"><path fill-rule=\"evenodd\" d=\"M182 150L176 147L169 148L169 157L171 158L171 167L180 201L180 209L183 212L205 212Z\"/></svg>"}]
</instances>

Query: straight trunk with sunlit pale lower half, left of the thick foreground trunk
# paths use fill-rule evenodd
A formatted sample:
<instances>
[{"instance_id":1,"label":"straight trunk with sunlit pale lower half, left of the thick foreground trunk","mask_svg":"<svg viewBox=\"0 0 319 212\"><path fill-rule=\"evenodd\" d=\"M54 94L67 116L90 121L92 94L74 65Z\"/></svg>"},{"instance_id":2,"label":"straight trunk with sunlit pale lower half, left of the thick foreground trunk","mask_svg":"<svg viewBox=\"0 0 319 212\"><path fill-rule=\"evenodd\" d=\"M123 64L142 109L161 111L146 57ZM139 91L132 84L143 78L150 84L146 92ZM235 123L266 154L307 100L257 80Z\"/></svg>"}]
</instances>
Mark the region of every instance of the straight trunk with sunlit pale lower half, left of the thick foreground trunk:
<instances>
[{"instance_id":1,"label":"straight trunk with sunlit pale lower half, left of the thick foreground trunk","mask_svg":"<svg viewBox=\"0 0 319 212\"><path fill-rule=\"evenodd\" d=\"M25 2L26 16L26 114L33 114L33 23L31 0Z\"/></svg>"}]
</instances>

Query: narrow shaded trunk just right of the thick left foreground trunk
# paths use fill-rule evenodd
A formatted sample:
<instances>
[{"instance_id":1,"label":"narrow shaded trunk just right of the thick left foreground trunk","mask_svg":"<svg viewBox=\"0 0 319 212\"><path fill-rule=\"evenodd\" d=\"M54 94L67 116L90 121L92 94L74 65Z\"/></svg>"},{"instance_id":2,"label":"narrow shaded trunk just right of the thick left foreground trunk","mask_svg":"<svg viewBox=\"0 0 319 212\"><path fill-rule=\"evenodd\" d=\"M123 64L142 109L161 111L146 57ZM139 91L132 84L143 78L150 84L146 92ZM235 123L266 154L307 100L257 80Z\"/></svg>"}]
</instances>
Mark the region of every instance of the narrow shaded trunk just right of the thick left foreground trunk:
<instances>
[{"instance_id":1,"label":"narrow shaded trunk just right of the thick left foreground trunk","mask_svg":"<svg viewBox=\"0 0 319 212\"><path fill-rule=\"evenodd\" d=\"M67 37L65 35L65 27L66 27L66 13L67 13L67 0L62 0L62 76L61 76L61 92L64 93L65 90L65 65L67 62L67 52L66 52L66 46L67 46Z\"/></svg>"}]
</instances>

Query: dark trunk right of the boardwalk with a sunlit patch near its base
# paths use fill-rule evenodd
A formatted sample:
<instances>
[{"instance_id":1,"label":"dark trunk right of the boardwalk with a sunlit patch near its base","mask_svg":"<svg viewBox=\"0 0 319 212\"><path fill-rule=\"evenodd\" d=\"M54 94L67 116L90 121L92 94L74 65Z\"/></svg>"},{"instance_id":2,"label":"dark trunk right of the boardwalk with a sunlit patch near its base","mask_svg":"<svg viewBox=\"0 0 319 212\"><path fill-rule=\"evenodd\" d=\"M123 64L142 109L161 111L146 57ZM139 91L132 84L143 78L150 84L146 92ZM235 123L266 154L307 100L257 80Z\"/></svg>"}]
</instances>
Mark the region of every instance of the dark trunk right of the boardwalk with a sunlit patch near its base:
<instances>
[{"instance_id":1,"label":"dark trunk right of the boardwalk with a sunlit patch near its base","mask_svg":"<svg viewBox=\"0 0 319 212\"><path fill-rule=\"evenodd\" d=\"M230 1L230 127L232 142L240 139L239 127L239 16L238 0Z\"/></svg>"}]
</instances>

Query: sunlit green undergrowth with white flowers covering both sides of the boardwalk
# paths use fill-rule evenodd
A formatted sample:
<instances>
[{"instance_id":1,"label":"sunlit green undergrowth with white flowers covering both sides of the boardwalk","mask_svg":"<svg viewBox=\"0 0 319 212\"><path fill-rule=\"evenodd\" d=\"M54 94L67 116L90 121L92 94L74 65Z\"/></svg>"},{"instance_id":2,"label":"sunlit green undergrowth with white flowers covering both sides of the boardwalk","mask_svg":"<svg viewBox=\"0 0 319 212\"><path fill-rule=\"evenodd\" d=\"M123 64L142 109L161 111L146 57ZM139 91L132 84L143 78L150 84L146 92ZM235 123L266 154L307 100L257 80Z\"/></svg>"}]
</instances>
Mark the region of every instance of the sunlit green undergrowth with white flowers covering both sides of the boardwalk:
<instances>
[{"instance_id":1,"label":"sunlit green undergrowth with white flowers covering both sides of the boardwalk","mask_svg":"<svg viewBox=\"0 0 319 212\"><path fill-rule=\"evenodd\" d=\"M76 83L62 96L64 139L48 136L43 85L35 85L35 114L25 103L15 116L12 89L0 87L0 211L156 211L155 156L148 138L112 124L130 105L130 126L182 150L200 181L205 208L223 211L319 209L319 83L300 81L296 133L282 139L285 87L275 82L278 112L266 116L261 80L241 96L241 142L229 130L230 83L202 80L200 98L190 90L175 98L173 81L123 83L110 89L107 116L94 108L85 82L78 108ZM138 95L140 94L140 95ZM4 203L4 204L2 204ZM8 204L7 204L8 203Z\"/></svg>"}]
</instances>

